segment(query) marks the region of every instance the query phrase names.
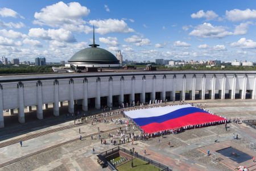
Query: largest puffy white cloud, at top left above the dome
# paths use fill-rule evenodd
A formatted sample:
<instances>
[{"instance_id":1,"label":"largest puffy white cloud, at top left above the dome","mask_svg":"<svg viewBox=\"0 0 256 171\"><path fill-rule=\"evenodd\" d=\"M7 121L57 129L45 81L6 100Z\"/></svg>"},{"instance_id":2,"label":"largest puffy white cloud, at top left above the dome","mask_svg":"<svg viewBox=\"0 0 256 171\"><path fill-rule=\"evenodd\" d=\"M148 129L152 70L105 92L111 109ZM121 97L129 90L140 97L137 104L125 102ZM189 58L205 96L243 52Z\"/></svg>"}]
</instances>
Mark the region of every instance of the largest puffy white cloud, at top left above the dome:
<instances>
[{"instance_id":1,"label":"largest puffy white cloud, at top left above the dome","mask_svg":"<svg viewBox=\"0 0 256 171\"><path fill-rule=\"evenodd\" d=\"M84 24L83 16L90 10L78 2L64 3L62 1L44 7L40 12L35 12L34 24L59 27L63 24Z\"/></svg>"}]
</instances>

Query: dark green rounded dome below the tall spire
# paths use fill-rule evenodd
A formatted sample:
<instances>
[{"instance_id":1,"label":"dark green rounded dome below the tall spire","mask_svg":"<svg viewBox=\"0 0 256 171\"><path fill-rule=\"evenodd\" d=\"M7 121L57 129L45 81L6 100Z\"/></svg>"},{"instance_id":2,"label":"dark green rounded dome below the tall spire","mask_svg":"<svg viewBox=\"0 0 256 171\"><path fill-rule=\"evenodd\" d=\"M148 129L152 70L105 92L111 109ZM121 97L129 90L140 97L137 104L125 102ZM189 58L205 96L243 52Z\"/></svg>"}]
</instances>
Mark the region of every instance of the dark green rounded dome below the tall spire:
<instances>
[{"instance_id":1,"label":"dark green rounded dome below the tall spire","mask_svg":"<svg viewBox=\"0 0 256 171\"><path fill-rule=\"evenodd\" d=\"M76 52L68 62L73 64L119 64L119 60L111 52L97 47L85 48Z\"/></svg>"}]
</instances>

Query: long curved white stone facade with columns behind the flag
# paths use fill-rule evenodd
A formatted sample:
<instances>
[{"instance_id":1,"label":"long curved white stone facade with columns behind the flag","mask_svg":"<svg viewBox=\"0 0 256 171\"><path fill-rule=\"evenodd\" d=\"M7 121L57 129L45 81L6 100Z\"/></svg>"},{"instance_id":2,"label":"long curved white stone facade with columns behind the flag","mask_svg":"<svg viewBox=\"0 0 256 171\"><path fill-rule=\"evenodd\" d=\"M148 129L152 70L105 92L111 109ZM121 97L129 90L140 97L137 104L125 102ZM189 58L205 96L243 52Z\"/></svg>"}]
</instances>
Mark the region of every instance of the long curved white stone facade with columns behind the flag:
<instances>
[{"instance_id":1,"label":"long curved white stone facade with columns behind the flag","mask_svg":"<svg viewBox=\"0 0 256 171\"><path fill-rule=\"evenodd\" d=\"M59 102L68 101L68 111L74 112L74 101L82 101L88 110L89 99L96 109L101 108L101 97L112 107L114 96L122 103L148 103L150 100L179 100L239 98L246 92L255 99L255 71L155 71L117 73L28 74L0 77L0 127L4 127L3 110L18 109L18 119L24 123L24 108L36 106L37 118L43 119L43 105L53 103L53 114L59 116ZM186 96L187 94L187 96ZM228 94L228 97L227 97ZM226 96L225 96L226 95ZM149 97L150 96L150 97ZM157 97L156 97L157 96ZM125 98L126 97L126 98ZM127 97L129 97L127 100ZM137 99L136 99L137 98Z\"/></svg>"}]
</instances>

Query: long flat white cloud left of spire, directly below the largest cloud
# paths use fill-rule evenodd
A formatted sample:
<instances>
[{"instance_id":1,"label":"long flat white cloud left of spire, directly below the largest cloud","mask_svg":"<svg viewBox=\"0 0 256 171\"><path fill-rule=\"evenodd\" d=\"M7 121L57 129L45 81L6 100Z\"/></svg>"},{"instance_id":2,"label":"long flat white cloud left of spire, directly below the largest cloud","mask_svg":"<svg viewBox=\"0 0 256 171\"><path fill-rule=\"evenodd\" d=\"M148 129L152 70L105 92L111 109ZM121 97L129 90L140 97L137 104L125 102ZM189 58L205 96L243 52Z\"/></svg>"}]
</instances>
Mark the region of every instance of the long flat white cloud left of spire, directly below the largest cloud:
<instances>
[{"instance_id":1,"label":"long flat white cloud left of spire, directly below the largest cloud","mask_svg":"<svg viewBox=\"0 0 256 171\"><path fill-rule=\"evenodd\" d=\"M63 28L48 29L44 30L43 28L31 28L28 32L28 35L31 37L37 37L44 40L57 40L65 41L68 43L75 42L76 39L72 35L71 31L64 30Z\"/></svg>"}]
</instances>

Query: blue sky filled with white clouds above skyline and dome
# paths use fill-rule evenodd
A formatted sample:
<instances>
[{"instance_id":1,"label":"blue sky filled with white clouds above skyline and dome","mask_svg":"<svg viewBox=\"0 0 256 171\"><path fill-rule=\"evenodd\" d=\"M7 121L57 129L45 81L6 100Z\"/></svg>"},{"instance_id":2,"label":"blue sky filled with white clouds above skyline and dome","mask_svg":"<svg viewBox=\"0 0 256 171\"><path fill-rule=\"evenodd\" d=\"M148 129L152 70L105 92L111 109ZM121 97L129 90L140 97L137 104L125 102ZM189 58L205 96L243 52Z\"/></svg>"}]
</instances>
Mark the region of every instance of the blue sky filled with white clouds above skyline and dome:
<instances>
[{"instance_id":1,"label":"blue sky filled with white clouds above skyline and dome","mask_svg":"<svg viewBox=\"0 0 256 171\"><path fill-rule=\"evenodd\" d=\"M1 56L68 60L96 43L123 59L256 61L256 1L2 1Z\"/></svg>"}]
</instances>

